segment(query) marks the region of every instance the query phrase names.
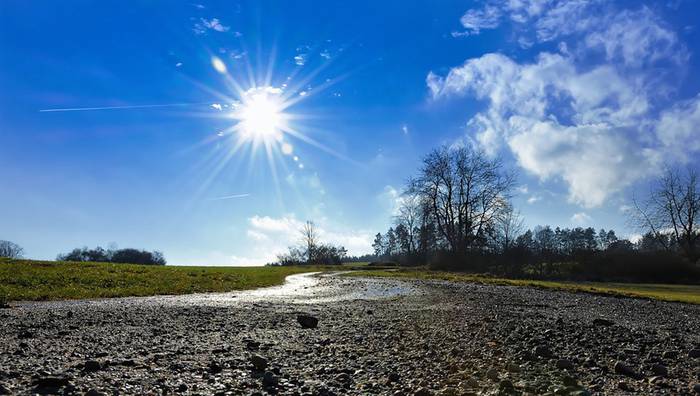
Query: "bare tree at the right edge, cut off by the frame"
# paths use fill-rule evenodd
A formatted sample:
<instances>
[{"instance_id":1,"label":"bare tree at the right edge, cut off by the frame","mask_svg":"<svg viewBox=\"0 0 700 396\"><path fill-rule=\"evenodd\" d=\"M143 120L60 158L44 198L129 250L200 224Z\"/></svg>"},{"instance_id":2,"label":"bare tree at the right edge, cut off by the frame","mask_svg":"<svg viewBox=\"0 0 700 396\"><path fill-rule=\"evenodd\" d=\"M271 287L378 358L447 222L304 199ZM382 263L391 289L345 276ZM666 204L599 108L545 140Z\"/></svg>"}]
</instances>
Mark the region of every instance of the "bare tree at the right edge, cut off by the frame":
<instances>
[{"instance_id":1,"label":"bare tree at the right edge, cut off by the frame","mask_svg":"<svg viewBox=\"0 0 700 396\"><path fill-rule=\"evenodd\" d=\"M700 189L698 172L688 169L682 174L668 170L652 187L643 202L634 200L636 223L651 232L666 250L678 244L690 260L698 259L700 244ZM668 236L672 238L668 238Z\"/></svg>"}]
</instances>

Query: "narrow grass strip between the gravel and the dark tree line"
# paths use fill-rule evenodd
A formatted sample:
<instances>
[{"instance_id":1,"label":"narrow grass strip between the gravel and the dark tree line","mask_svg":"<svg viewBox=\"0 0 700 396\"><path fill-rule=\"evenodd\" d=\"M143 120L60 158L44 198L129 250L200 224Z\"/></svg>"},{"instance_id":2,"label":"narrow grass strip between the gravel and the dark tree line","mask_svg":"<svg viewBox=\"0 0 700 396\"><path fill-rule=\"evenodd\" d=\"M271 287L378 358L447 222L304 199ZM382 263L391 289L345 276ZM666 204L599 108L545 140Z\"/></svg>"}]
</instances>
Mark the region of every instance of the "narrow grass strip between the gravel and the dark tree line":
<instances>
[{"instance_id":1,"label":"narrow grass strip between the gravel and the dark tree line","mask_svg":"<svg viewBox=\"0 0 700 396\"><path fill-rule=\"evenodd\" d=\"M523 279L504 279L484 275L455 272L429 271L425 269L400 269L395 271L357 271L350 276L383 276L410 279L436 279L482 284L529 286L572 292L611 294L627 297L653 298L664 301L677 301L700 304L700 285L667 285L646 283L596 283L596 282L557 282Z\"/></svg>"}]
</instances>

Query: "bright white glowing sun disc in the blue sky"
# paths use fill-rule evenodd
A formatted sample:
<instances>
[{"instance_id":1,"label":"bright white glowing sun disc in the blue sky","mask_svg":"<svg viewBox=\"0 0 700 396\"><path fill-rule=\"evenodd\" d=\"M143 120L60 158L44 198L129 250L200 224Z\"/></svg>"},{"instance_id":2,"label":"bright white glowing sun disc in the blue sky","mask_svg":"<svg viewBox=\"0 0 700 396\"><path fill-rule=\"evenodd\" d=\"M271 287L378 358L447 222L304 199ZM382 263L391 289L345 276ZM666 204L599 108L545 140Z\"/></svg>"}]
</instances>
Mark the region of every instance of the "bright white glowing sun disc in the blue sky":
<instances>
[{"instance_id":1,"label":"bright white glowing sun disc in the blue sky","mask_svg":"<svg viewBox=\"0 0 700 396\"><path fill-rule=\"evenodd\" d=\"M265 143L282 140L288 126L281 95L282 90L274 87L255 87L241 95L232 116L242 138Z\"/></svg>"}]
</instances>

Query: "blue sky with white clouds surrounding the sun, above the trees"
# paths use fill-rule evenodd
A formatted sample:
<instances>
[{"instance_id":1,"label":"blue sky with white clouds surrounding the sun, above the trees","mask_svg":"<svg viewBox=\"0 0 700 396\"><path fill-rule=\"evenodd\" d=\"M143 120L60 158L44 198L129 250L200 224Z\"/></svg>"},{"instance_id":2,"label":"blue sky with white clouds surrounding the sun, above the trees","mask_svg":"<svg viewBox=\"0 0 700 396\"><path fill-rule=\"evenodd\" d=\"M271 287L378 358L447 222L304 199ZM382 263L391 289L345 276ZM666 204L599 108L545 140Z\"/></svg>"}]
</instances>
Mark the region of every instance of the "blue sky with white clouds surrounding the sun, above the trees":
<instances>
[{"instance_id":1,"label":"blue sky with white clouds surrounding the sun, above the trees","mask_svg":"<svg viewBox=\"0 0 700 396\"><path fill-rule=\"evenodd\" d=\"M679 0L6 0L0 239L31 258L115 243L245 265L311 219L361 254L441 144L502 156L528 226L633 235L631 197L664 166L698 167L695 15ZM240 140L231 113L263 91L289 105L288 131ZM84 110L40 111L56 109Z\"/></svg>"}]
</instances>

